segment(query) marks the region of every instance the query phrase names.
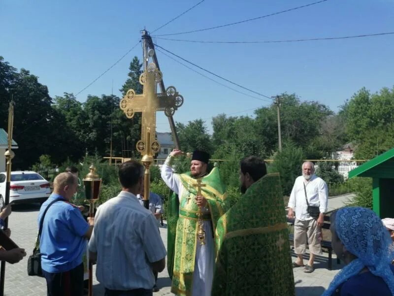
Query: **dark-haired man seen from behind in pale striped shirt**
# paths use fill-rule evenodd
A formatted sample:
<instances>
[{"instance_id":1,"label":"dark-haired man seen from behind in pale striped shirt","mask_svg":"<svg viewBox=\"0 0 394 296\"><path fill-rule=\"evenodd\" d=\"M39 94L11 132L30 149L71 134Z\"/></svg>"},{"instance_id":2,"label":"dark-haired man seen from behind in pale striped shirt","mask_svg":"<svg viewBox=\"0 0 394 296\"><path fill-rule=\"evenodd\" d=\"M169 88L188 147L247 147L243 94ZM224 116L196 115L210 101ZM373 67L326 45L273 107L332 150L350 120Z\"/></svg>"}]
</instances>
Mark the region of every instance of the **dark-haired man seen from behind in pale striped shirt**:
<instances>
[{"instance_id":1,"label":"dark-haired man seen from behind in pale striped shirt","mask_svg":"<svg viewBox=\"0 0 394 296\"><path fill-rule=\"evenodd\" d=\"M166 251L157 221L136 197L143 186L143 166L119 167L122 191L99 206L89 250L97 256L96 276L105 296L152 296L153 272L165 266Z\"/></svg>"}]
</instances>

